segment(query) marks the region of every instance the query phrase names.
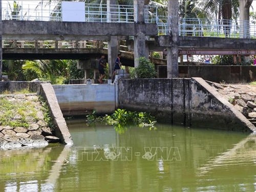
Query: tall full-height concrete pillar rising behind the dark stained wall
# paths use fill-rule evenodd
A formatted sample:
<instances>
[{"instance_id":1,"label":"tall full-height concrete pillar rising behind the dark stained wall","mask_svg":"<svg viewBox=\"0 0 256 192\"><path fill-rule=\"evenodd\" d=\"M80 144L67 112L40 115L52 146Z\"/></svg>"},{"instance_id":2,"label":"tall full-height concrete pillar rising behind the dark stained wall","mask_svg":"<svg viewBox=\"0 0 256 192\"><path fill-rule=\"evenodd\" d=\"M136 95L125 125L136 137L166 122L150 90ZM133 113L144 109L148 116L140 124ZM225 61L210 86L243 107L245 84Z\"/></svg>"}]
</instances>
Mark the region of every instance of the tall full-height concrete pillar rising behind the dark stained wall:
<instances>
[{"instance_id":1,"label":"tall full-height concrete pillar rising behind the dark stained wall","mask_svg":"<svg viewBox=\"0 0 256 192\"><path fill-rule=\"evenodd\" d=\"M178 71L178 40L179 40L179 1L168 1L168 35L170 47L167 48L167 78L179 76Z\"/></svg>"}]
</instances>

